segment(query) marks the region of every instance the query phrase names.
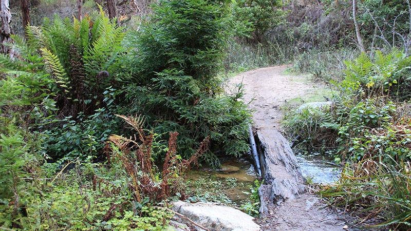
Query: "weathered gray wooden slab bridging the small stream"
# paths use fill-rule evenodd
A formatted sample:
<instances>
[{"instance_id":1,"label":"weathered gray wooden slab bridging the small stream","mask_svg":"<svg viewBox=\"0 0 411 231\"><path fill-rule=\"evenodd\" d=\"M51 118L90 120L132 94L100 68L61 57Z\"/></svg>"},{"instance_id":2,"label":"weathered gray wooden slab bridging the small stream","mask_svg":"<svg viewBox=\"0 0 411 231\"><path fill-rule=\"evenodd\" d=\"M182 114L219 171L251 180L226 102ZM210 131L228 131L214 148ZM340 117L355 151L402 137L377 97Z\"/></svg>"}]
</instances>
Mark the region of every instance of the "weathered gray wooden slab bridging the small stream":
<instances>
[{"instance_id":1,"label":"weathered gray wooden slab bridging the small stream","mask_svg":"<svg viewBox=\"0 0 411 231\"><path fill-rule=\"evenodd\" d=\"M294 199L305 190L304 177L290 144L276 129L262 128L256 133L261 171L265 184L259 189L260 214L267 215L267 207Z\"/></svg>"}]
</instances>

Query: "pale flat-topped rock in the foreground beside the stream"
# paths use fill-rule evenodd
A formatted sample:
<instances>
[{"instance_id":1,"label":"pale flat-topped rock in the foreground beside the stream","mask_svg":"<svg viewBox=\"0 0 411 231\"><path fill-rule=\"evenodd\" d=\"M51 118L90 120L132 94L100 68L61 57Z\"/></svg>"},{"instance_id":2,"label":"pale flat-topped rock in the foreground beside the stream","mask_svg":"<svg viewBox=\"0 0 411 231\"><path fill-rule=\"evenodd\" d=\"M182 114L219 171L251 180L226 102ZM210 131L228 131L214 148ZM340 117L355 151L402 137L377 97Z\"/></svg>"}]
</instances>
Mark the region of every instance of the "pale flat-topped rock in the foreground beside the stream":
<instances>
[{"instance_id":1,"label":"pale flat-topped rock in the foreground beside the stream","mask_svg":"<svg viewBox=\"0 0 411 231\"><path fill-rule=\"evenodd\" d=\"M173 204L173 210L188 217L197 224L215 231L257 231L260 226L253 222L253 217L235 208L214 203L197 202L195 204L177 201ZM178 216L173 220L188 223ZM203 230L196 227L198 230Z\"/></svg>"}]
</instances>

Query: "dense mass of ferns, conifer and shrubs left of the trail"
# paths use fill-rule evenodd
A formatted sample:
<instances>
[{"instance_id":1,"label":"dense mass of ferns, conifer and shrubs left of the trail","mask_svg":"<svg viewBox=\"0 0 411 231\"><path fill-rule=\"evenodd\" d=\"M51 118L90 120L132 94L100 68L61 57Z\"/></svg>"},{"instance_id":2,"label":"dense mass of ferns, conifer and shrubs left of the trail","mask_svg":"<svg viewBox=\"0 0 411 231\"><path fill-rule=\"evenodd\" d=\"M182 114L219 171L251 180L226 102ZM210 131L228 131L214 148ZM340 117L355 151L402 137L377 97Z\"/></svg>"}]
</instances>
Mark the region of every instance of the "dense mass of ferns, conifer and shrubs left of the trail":
<instances>
[{"instance_id":1,"label":"dense mass of ferns, conifer and shrubs left of the trail","mask_svg":"<svg viewBox=\"0 0 411 231\"><path fill-rule=\"evenodd\" d=\"M218 76L226 10L159 2L125 41L102 8L82 21L45 18L14 36L14 58L0 56L0 226L163 230L166 201L185 198L180 184L199 156L217 165L217 150L246 152L249 111L241 90L227 95ZM150 130L128 117L136 113ZM112 135L110 146L113 133L126 135Z\"/></svg>"}]
</instances>

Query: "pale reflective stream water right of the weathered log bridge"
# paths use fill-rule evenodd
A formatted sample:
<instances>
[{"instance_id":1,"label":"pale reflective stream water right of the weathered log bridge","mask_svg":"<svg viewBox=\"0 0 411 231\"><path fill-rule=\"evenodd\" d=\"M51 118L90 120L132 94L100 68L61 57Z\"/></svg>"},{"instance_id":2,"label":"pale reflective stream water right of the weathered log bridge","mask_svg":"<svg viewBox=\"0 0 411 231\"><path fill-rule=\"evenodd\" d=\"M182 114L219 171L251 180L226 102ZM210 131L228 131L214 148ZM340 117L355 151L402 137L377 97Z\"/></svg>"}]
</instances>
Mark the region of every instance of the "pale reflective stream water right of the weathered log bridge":
<instances>
[{"instance_id":1,"label":"pale reflective stream water right of the weathered log bridge","mask_svg":"<svg viewBox=\"0 0 411 231\"><path fill-rule=\"evenodd\" d=\"M328 157L322 155L296 155L296 157L303 176L312 183L332 183L337 181L340 176L341 166L332 163Z\"/></svg>"}]
</instances>

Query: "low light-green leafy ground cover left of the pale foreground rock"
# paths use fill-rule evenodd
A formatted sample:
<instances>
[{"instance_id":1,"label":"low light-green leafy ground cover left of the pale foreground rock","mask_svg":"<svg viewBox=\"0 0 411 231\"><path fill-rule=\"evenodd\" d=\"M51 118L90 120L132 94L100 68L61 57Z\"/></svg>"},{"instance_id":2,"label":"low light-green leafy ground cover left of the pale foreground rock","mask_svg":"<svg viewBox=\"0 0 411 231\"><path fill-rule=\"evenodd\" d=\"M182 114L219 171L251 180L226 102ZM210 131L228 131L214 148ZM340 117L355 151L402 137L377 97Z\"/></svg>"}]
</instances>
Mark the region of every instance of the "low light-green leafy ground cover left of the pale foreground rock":
<instances>
[{"instance_id":1,"label":"low light-green leafy ground cover left of the pale foreground rock","mask_svg":"<svg viewBox=\"0 0 411 231\"><path fill-rule=\"evenodd\" d=\"M10 221L14 221L19 225L16 230L166 229L173 215L164 207L152 206L147 199L135 201L133 191L126 186L130 179L123 173L117 166L79 161L66 173L38 172L36 177L46 179L30 180L32 187L27 187L25 195L27 214L20 213L11 220L13 207L2 203L0 225L10 228Z\"/></svg>"}]
</instances>

